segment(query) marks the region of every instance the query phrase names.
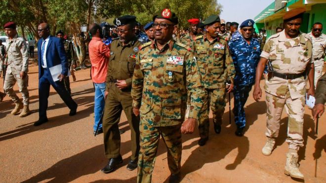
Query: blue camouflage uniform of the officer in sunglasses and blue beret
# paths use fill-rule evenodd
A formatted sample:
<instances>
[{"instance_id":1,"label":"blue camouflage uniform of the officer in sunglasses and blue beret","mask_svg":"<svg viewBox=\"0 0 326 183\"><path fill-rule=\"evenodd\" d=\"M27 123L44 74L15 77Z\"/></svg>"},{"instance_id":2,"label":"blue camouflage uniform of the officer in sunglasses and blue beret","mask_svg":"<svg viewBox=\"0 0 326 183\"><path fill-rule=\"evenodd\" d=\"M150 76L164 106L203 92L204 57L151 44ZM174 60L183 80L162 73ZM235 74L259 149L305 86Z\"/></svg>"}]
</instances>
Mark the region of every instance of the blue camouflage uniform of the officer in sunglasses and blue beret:
<instances>
[{"instance_id":1,"label":"blue camouflage uniform of the officer in sunglasses and blue beret","mask_svg":"<svg viewBox=\"0 0 326 183\"><path fill-rule=\"evenodd\" d=\"M260 43L251 38L250 44L243 37L229 42L236 76L234 77L234 120L240 128L245 126L244 104L248 99L252 85L255 83L255 73L259 62Z\"/></svg>"}]
</instances>

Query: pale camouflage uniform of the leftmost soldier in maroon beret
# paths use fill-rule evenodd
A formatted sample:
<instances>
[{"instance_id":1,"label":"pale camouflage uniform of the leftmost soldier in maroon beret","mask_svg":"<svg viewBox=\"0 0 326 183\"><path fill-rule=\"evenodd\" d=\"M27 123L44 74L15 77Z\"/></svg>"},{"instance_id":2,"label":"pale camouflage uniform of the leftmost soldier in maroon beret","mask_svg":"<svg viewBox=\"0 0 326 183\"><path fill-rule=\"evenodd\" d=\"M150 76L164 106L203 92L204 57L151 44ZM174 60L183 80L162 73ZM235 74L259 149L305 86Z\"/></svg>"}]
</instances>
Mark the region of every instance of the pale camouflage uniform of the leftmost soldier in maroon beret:
<instances>
[{"instance_id":1,"label":"pale camouflage uniform of the leftmost soldier in maroon beret","mask_svg":"<svg viewBox=\"0 0 326 183\"><path fill-rule=\"evenodd\" d=\"M28 86L28 45L22 37L16 35L12 40L6 38L8 64L5 74L3 89L14 103L20 103L19 98L13 90L14 84L18 83L19 92L22 93L24 106L29 105ZM25 72L26 76L22 79L20 72Z\"/></svg>"}]
</instances>

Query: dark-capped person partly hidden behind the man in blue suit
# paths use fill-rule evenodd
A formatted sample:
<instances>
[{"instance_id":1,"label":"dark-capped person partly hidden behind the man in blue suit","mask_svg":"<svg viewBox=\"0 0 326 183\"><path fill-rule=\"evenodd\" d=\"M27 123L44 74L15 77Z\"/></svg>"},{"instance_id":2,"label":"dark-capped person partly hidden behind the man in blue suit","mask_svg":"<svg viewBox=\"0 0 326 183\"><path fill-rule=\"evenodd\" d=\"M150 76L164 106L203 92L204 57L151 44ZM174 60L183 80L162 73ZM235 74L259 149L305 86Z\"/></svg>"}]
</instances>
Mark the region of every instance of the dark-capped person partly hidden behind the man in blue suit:
<instances>
[{"instance_id":1,"label":"dark-capped person partly hidden behind the man in blue suit","mask_svg":"<svg viewBox=\"0 0 326 183\"><path fill-rule=\"evenodd\" d=\"M68 60L68 69L70 70L71 75L73 75L73 70L71 69L71 67L76 68L73 43L70 40L63 38L64 33L62 30L59 30L57 32L56 37L60 38L63 41L63 45L65 46L65 51L66 51L66 57ZM75 76L75 75L73 75L73 76ZM74 80L76 80L76 78ZM66 90L68 91L69 95L71 95L69 77L65 77L64 83L65 83Z\"/></svg>"}]
</instances>

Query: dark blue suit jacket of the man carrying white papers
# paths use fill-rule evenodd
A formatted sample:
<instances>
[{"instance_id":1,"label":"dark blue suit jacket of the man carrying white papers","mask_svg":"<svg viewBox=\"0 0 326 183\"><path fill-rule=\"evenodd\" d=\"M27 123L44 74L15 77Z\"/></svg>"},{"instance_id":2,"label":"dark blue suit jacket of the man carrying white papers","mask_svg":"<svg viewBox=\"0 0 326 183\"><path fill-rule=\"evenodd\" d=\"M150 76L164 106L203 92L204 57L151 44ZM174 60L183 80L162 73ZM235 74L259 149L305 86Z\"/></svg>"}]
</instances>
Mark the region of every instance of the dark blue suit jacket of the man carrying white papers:
<instances>
[{"instance_id":1,"label":"dark blue suit jacket of the man carrying white papers","mask_svg":"<svg viewBox=\"0 0 326 183\"><path fill-rule=\"evenodd\" d=\"M41 38L38 42L38 54L39 54L39 79L43 75L44 71L41 65L41 45L43 42L43 38ZM50 36L49 42L47 43L46 47L46 67L47 69L56 66L62 65L62 72L61 74L66 75L68 74L68 61L66 57L65 47L60 40L60 38Z\"/></svg>"}]
</instances>

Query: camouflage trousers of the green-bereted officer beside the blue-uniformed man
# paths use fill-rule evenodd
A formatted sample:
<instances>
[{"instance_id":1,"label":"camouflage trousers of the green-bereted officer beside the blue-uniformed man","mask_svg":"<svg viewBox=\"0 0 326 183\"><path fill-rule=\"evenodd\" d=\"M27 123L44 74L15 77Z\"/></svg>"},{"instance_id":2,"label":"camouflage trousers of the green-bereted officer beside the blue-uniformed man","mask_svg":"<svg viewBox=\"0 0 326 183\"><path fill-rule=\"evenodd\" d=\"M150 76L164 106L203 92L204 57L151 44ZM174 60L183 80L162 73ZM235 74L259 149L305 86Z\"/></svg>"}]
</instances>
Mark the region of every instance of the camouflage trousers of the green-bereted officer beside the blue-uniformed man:
<instances>
[{"instance_id":1,"label":"camouflage trousers of the green-bereted officer beside the blue-uniformed man","mask_svg":"<svg viewBox=\"0 0 326 183\"><path fill-rule=\"evenodd\" d=\"M200 111L198 120L199 135L201 138L206 138L209 134L209 107L213 112L213 122L221 125L225 105L225 88L204 90L203 108Z\"/></svg>"}]
</instances>

